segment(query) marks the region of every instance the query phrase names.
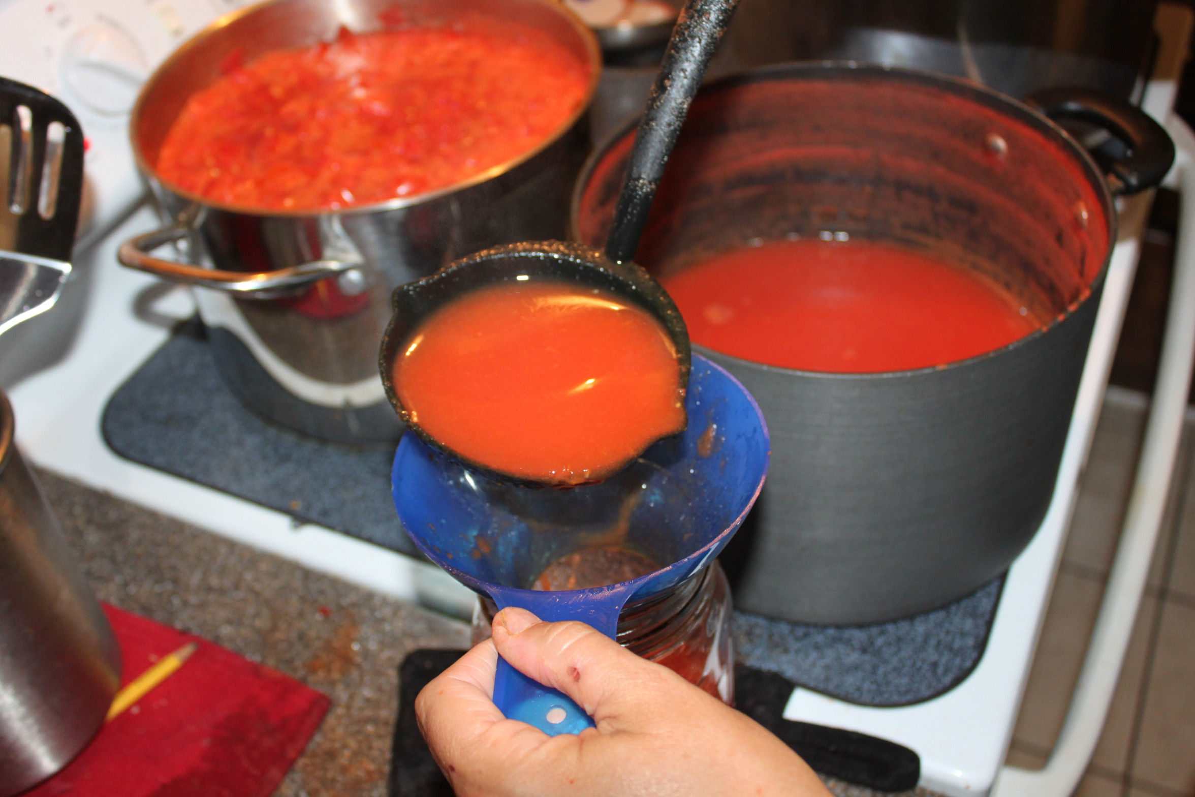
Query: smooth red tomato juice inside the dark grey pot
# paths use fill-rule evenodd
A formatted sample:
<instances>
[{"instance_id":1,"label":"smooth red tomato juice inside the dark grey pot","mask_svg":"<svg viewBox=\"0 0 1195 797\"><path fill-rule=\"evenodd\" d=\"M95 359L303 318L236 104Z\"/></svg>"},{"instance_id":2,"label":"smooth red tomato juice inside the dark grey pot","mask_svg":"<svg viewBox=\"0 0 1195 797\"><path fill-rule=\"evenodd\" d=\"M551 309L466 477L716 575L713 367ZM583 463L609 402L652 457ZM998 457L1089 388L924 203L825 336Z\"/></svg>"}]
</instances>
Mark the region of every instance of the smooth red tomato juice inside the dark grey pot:
<instances>
[{"instance_id":1,"label":"smooth red tomato juice inside the dark grey pot","mask_svg":"<svg viewBox=\"0 0 1195 797\"><path fill-rule=\"evenodd\" d=\"M694 343L768 366L865 374L945 366L1043 326L1000 286L920 252L755 243L664 282Z\"/></svg>"}]
</instances>

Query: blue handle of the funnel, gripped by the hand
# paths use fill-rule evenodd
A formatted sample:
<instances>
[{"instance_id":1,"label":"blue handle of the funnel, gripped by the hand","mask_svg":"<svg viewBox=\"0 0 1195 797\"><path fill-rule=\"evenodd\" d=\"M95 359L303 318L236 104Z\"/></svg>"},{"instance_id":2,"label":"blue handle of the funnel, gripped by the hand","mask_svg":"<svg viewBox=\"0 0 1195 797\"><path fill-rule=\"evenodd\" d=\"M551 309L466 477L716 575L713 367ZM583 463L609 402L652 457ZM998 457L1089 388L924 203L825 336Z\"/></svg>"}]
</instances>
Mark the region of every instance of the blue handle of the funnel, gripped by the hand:
<instances>
[{"instance_id":1,"label":"blue handle of the funnel, gripped by the hand","mask_svg":"<svg viewBox=\"0 0 1195 797\"><path fill-rule=\"evenodd\" d=\"M618 615L633 587L629 582L613 584L599 597L587 595L589 591L540 593L497 588L490 597L500 609L516 606L549 623L581 620L612 639L617 638ZM523 675L501 656L494 675L494 704L507 719L534 725L549 736L580 734L594 727L594 721L571 698Z\"/></svg>"}]
</instances>

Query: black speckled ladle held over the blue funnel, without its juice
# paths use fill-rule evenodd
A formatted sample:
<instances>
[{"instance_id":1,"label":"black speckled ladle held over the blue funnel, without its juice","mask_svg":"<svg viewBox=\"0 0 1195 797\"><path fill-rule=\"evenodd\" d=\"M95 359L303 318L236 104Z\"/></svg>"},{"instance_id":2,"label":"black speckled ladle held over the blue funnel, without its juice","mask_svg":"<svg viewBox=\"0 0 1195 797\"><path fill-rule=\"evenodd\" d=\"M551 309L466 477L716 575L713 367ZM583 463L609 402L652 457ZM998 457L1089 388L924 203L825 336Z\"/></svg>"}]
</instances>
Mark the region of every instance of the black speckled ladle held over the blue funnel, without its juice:
<instances>
[{"instance_id":1,"label":"black speckled ladle held over the blue funnel, without its juice","mask_svg":"<svg viewBox=\"0 0 1195 797\"><path fill-rule=\"evenodd\" d=\"M660 63L660 73L648 97L643 121L636 133L605 252L562 241L508 244L454 260L429 277L394 289L393 315L381 342L381 380L386 398L398 411L399 418L423 442L472 468L504 480L527 486L549 486L549 483L495 471L461 456L412 421L411 412L394 390L393 368L403 343L428 315L465 293L498 282L511 282L520 276L565 280L605 288L642 307L668 331L676 350L680 386L688 385L691 350L688 331L680 311L660 283L631 260L690 103L701 85L705 69L730 24L730 16L737 2L739 0L690 0L678 17Z\"/></svg>"}]
</instances>

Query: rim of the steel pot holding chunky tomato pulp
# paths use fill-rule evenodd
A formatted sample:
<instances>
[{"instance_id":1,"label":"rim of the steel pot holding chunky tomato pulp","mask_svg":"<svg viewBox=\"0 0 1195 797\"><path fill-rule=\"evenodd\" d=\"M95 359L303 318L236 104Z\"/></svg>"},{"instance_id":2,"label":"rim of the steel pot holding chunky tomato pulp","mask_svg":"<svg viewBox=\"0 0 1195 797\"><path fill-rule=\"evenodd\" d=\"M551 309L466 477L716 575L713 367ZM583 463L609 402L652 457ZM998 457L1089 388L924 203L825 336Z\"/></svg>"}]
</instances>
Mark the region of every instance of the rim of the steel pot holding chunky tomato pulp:
<instances>
[{"instance_id":1,"label":"rim of the steel pot holding chunky tomato pulp","mask_svg":"<svg viewBox=\"0 0 1195 797\"><path fill-rule=\"evenodd\" d=\"M569 22L569 24L572 25L572 29L577 32L577 35L581 36L581 39L584 43L586 54L588 56L589 85L586 90L584 102L581 103L581 105L577 108L576 111L574 111L564 122L562 122L559 127L552 130L551 135L545 137L538 146L535 146L532 149L528 149L527 152L515 158L511 158L510 160L507 160L502 164L497 164L496 166L492 166L485 170L484 172L474 174L473 177L460 180L459 183L453 183L452 185L446 185L434 191L425 191L423 194L416 194L413 196L407 196L407 197L396 197L393 200L385 200L382 202L373 202L369 204L354 204L347 208L335 208L335 209L333 208L313 208L307 210L264 209L264 208L253 208L247 206L229 204L225 202L216 202L214 200L206 198L192 191L188 191L186 189L179 188L178 185L159 176L157 167L152 166L148 163L148 160L145 157L145 153L141 151L141 142L137 136L137 127L141 121L141 116L145 111L145 106L148 102L147 98L151 93L151 90L158 86L158 84L163 80L165 73L168 69L171 69L174 66L174 63L179 59L182 59L183 55L200 47L200 44L203 43L204 41L214 36L221 35L221 31L223 29L234 25L243 18L261 12L263 8L287 2L300 2L300 1L302 0L262 0L261 2L255 2L243 8L229 11L228 13L217 17L209 25L203 27L203 30L198 31L197 33L188 38L185 42L183 42L180 45L178 45L170 54L170 56L165 61L163 61L157 69L153 70L149 78L141 86L141 91L137 92L137 100L133 105L133 112L129 115L129 142L133 147L133 159L136 163L137 168L141 171L142 174L148 177L151 180L153 180L161 188L171 191L172 194L179 197L183 197L184 200L194 202L195 204L202 206L204 208L223 210L226 213L238 213L246 216L313 219L324 216L355 216L355 215L364 215L369 213L378 213L386 210L398 210L402 208L424 204L433 200L439 200L441 197L456 194L458 191L462 191L479 183L484 183L486 180L494 179L510 171L514 171L516 167L521 166L522 164L527 163L539 153L544 152L545 149L554 145L569 130L571 130L577 124L577 122L586 114L589 112L589 106L593 104L594 94L596 94L598 92L598 82L601 79L602 61L601 61L601 47L599 45L598 37L594 35L593 30L588 25L586 25L584 22L582 22L582 19L575 12L569 10L563 2L556 2L554 0L533 0L534 2L539 2L541 6L551 8L556 13L564 17ZM324 2L325 5L330 5L329 0L320 0L320 1ZM344 22L342 22L341 24L342 26L348 27L348 25ZM362 31L361 35L370 32L380 32L381 30L387 30L387 29L381 27L379 29L379 31ZM188 99L190 99L190 97Z\"/></svg>"}]
</instances>

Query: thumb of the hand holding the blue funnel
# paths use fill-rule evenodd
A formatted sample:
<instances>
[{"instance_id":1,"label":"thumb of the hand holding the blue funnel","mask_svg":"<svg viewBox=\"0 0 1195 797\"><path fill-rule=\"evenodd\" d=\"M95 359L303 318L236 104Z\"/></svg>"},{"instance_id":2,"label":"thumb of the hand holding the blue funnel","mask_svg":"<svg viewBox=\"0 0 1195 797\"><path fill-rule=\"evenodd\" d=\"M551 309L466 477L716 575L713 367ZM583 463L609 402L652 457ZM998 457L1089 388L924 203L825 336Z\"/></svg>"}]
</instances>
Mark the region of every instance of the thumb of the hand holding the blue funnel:
<instances>
[{"instance_id":1,"label":"thumb of the hand holding the blue funnel","mask_svg":"<svg viewBox=\"0 0 1195 797\"><path fill-rule=\"evenodd\" d=\"M600 730L632 724L674 681L687 686L584 623L543 623L526 609L498 612L494 644L520 673L569 695Z\"/></svg>"}]
</instances>

